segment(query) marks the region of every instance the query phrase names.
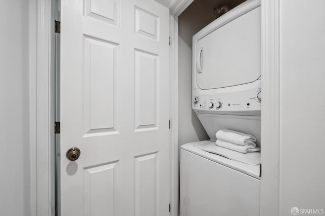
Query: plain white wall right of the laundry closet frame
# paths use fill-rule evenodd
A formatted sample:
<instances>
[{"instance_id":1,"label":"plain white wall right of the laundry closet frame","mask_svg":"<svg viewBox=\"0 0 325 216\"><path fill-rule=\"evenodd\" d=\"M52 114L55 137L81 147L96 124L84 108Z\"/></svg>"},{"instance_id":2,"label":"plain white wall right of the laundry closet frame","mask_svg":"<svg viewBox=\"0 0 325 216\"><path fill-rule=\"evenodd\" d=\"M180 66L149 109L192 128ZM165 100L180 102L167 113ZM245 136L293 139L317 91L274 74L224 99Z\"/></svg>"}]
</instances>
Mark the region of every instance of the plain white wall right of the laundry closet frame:
<instances>
[{"instance_id":1,"label":"plain white wall right of the laundry closet frame","mask_svg":"<svg viewBox=\"0 0 325 216\"><path fill-rule=\"evenodd\" d=\"M325 1L280 1L280 212L325 211Z\"/></svg>"}]
</instances>

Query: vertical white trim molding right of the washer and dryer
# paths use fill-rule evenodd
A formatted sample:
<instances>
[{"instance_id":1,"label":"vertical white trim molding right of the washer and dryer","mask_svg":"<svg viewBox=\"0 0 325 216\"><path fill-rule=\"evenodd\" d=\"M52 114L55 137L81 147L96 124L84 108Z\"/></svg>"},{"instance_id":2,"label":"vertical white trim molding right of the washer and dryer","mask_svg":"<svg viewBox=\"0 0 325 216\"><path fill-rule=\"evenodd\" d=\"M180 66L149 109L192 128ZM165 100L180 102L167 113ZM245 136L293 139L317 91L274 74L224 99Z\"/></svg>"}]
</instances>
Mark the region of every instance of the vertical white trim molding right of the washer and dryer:
<instances>
[{"instance_id":1,"label":"vertical white trim molding right of the washer and dryer","mask_svg":"<svg viewBox=\"0 0 325 216\"><path fill-rule=\"evenodd\" d=\"M261 215L274 216L280 205L280 0L262 0L261 10Z\"/></svg>"}]
</instances>

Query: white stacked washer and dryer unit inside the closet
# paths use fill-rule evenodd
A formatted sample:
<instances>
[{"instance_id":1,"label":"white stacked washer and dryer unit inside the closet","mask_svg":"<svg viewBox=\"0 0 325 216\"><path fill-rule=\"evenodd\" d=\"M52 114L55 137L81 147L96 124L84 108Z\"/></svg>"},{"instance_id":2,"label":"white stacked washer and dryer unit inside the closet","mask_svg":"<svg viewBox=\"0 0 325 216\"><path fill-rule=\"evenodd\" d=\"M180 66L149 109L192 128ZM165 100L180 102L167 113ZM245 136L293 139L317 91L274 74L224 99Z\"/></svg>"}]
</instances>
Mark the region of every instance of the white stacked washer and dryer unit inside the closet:
<instances>
[{"instance_id":1,"label":"white stacked washer and dryer unit inside the closet","mask_svg":"<svg viewBox=\"0 0 325 216\"><path fill-rule=\"evenodd\" d=\"M261 147L259 0L207 25L192 48L192 109L210 140L181 146L180 215L258 216L260 157L247 163L252 153L233 158L214 149L220 129L252 134Z\"/></svg>"}]
</instances>

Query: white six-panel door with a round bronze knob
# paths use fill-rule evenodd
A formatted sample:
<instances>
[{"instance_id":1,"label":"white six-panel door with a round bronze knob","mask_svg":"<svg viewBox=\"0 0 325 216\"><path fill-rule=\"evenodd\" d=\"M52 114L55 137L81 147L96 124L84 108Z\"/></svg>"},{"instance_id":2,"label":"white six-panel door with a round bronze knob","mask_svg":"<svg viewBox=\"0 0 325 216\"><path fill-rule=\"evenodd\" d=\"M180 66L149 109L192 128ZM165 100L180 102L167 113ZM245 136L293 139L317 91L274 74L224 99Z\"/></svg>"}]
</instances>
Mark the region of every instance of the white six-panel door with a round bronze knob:
<instances>
[{"instance_id":1,"label":"white six-panel door with a round bronze knob","mask_svg":"<svg viewBox=\"0 0 325 216\"><path fill-rule=\"evenodd\" d=\"M153 0L61 0L62 216L169 215L168 32Z\"/></svg>"}]
</instances>

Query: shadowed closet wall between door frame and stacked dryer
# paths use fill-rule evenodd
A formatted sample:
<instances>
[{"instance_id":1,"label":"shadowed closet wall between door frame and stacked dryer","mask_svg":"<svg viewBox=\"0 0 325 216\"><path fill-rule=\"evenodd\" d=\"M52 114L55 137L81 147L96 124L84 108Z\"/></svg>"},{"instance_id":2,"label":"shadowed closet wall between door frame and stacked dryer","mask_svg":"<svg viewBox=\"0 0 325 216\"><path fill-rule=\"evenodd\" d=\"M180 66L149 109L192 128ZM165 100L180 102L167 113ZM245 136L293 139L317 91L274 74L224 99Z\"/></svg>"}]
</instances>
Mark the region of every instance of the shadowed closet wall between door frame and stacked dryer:
<instances>
[{"instance_id":1,"label":"shadowed closet wall between door frame and stacked dryer","mask_svg":"<svg viewBox=\"0 0 325 216\"><path fill-rule=\"evenodd\" d=\"M178 17L178 144L209 139L192 111L192 37L213 21L213 8L194 1Z\"/></svg>"}]
</instances>

